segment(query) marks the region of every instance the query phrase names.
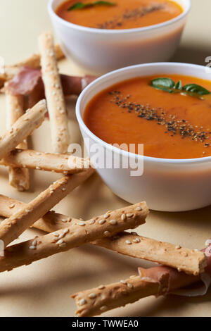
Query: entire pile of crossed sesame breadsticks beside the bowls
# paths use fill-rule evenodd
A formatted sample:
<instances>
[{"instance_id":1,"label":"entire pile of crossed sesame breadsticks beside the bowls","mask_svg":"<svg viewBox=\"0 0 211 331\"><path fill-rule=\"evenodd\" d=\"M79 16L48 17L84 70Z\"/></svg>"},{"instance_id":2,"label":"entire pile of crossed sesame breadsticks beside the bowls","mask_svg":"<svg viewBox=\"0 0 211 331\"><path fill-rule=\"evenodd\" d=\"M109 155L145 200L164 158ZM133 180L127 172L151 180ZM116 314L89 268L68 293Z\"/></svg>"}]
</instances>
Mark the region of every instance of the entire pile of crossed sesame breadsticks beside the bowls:
<instances>
[{"instance_id":1,"label":"entire pile of crossed sesame breadsticks beside the bowls","mask_svg":"<svg viewBox=\"0 0 211 331\"><path fill-rule=\"evenodd\" d=\"M0 76L6 94L7 117L7 131L0 137L0 164L9 167L10 184L19 191L28 189L29 169L63 173L63 177L28 204L0 195L0 215L6 218L0 224L0 239L5 246L4 256L0 258L0 272L27 266L87 242L164 265L146 270L139 268L139 275L128 280L107 286L99 285L96 289L74 294L72 297L77 303L77 316L100 315L145 296L167 294L200 282L200 275L210 273L211 269L210 259L206 258L203 251L158 242L141 237L136 232L125 232L145 223L148 216L145 202L108 211L86 221L51 211L61 199L94 173L88 159L68 154L68 118L57 63L60 58L63 58L60 47L54 46L51 34L44 33L39 37L39 54L6 67L4 75ZM17 81L17 75L23 67L41 68L46 97L46 100L40 100L27 111L24 95L11 93L11 89L8 89L11 80L13 83ZM21 90L20 86L18 88ZM27 137L44 121L47 110L53 154L27 149ZM49 234L8 246L29 227Z\"/></svg>"}]
</instances>

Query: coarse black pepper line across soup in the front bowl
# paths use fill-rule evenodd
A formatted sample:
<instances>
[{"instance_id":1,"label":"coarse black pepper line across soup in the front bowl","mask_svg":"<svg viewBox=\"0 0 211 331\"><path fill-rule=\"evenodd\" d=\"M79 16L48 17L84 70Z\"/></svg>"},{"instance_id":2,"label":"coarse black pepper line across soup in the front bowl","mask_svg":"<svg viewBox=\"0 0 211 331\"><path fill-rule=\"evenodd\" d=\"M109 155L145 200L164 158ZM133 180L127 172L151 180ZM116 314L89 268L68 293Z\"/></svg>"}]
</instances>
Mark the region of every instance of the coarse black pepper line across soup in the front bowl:
<instances>
[{"instance_id":1,"label":"coarse black pepper line across soup in the front bowl","mask_svg":"<svg viewBox=\"0 0 211 331\"><path fill-rule=\"evenodd\" d=\"M171 137L179 134L181 138L191 138L194 142L205 142L205 139L209 139L211 134L210 130L203 130L203 127L198 128L198 125L193 127L187 120L179 119L176 115L167 114L162 108L152 108L149 104L143 105L135 102L130 102L129 94L123 96L120 91L108 92L110 96L110 102L115 103L118 107L126 109L129 113L134 111L138 118L145 120L155 120L158 125L165 127L165 133L170 133ZM211 146L205 143L205 147Z\"/></svg>"}]
</instances>

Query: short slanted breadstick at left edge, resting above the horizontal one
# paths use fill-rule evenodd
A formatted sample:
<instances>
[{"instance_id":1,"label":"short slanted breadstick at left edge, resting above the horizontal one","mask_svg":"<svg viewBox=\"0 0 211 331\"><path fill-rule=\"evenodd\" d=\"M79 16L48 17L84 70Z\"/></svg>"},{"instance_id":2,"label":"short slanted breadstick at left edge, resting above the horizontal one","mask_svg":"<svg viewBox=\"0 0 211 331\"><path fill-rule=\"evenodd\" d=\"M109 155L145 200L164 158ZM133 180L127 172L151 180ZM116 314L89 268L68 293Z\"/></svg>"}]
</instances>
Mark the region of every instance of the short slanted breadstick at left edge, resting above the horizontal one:
<instances>
[{"instance_id":1,"label":"short slanted breadstick at left edge, resting above the horizontal one","mask_svg":"<svg viewBox=\"0 0 211 331\"><path fill-rule=\"evenodd\" d=\"M18 144L32 134L34 129L44 121L46 101L41 100L32 109L29 109L0 137L0 159L15 149Z\"/></svg>"}]
</instances>

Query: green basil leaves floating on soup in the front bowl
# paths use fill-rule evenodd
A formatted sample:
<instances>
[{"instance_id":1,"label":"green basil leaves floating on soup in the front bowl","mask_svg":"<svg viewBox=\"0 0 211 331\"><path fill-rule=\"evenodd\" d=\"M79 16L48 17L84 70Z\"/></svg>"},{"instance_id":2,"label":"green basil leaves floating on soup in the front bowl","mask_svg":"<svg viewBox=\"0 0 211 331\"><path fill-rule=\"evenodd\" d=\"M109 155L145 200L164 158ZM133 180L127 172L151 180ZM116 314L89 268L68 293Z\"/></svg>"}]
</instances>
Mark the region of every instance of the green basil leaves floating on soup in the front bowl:
<instances>
[{"instance_id":1,"label":"green basil leaves floating on soup in the front bowl","mask_svg":"<svg viewBox=\"0 0 211 331\"><path fill-rule=\"evenodd\" d=\"M161 89L168 93L183 93L198 99L205 99L203 95L211 94L210 91L200 85L188 84L182 86L181 80L176 83L171 78L166 77L155 78L155 80L151 80L150 85L155 89Z\"/></svg>"}]
</instances>

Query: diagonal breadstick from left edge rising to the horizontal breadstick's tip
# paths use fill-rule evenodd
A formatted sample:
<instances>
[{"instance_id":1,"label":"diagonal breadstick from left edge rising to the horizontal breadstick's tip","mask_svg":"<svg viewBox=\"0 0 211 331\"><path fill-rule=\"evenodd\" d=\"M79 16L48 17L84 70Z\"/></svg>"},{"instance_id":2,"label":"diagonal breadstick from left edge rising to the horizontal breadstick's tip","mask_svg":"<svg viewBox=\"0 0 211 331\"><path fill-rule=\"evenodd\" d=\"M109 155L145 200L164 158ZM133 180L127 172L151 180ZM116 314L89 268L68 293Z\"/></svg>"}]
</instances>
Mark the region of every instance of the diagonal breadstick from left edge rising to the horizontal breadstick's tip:
<instances>
[{"instance_id":1,"label":"diagonal breadstick from left edge rising to the horizontal breadstick's tip","mask_svg":"<svg viewBox=\"0 0 211 331\"><path fill-rule=\"evenodd\" d=\"M90 168L82 173L67 175L57 180L48 189L41 192L37 198L4 220L0 224L0 239L3 240L4 246L8 246L17 239L36 220L39 220L75 187L84 182L93 171Z\"/></svg>"}]
</instances>

